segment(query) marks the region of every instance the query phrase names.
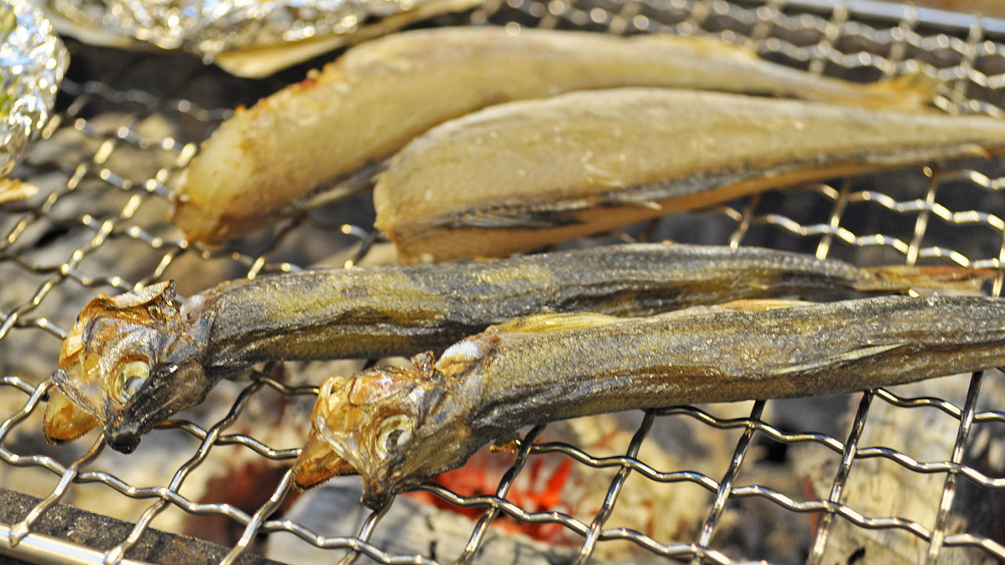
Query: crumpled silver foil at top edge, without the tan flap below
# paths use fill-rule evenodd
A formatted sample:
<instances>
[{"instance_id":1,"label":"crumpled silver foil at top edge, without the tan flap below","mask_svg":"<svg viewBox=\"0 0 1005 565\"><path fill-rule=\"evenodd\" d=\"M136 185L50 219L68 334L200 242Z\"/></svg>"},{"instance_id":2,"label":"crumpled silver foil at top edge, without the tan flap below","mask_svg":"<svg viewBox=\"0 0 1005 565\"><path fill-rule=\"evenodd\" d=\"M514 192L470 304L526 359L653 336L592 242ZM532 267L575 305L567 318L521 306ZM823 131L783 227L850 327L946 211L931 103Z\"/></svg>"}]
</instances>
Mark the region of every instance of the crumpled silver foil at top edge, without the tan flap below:
<instances>
[{"instance_id":1,"label":"crumpled silver foil at top edge, without the tan flap below","mask_svg":"<svg viewBox=\"0 0 1005 565\"><path fill-rule=\"evenodd\" d=\"M76 25L214 55L354 31L426 0L49 0Z\"/></svg>"}]
</instances>

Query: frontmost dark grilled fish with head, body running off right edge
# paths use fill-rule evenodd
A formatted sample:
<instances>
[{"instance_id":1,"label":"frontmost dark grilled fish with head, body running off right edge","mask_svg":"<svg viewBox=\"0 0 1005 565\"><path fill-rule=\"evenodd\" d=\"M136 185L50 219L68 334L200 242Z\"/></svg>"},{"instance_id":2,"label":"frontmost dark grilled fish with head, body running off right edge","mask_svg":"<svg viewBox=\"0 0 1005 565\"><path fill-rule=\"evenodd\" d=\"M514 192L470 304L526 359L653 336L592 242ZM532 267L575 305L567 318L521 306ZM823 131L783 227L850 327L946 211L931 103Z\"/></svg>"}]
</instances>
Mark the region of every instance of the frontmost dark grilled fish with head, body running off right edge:
<instances>
[{"instance_id":1,"label":"frontmost dark grilled fish with head, body running off right edge","mask_svg":"<svg viewBox=\"0 0 1005 565\"><path fill-rule=\"evenodd\" d=\"M849 331L848 328L854 328ZM740 301L650 318L538 315L489 328L415 369L321 388L294 482L359 473L363 503L553 420L677 403L841 394L1005 362L1005 300Z\"/></svg>"}]
</instances>

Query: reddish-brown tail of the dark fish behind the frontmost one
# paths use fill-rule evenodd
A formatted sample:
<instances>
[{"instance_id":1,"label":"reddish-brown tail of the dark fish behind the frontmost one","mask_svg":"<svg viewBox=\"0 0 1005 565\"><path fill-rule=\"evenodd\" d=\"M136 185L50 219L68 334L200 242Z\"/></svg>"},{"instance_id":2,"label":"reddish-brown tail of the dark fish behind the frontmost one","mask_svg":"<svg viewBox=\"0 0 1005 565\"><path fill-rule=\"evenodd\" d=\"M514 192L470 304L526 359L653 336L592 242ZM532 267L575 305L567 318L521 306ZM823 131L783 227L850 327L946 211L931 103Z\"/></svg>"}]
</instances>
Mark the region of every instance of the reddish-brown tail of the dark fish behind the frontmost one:
<instances>
[{"instance_id":1,"label":"reddish-brown tail of the dark fish behind the frontmost one","mask_svg":"<svg viewBox=\"0 0 1005 565\"><path fill-rule=\"evenodd\" d=\"M993 268L969 268L954 265L887 265L866 267L855 281L860 292L878 291L954 291L977 292L1001 274Z\"/></svg>"}]
</instances>

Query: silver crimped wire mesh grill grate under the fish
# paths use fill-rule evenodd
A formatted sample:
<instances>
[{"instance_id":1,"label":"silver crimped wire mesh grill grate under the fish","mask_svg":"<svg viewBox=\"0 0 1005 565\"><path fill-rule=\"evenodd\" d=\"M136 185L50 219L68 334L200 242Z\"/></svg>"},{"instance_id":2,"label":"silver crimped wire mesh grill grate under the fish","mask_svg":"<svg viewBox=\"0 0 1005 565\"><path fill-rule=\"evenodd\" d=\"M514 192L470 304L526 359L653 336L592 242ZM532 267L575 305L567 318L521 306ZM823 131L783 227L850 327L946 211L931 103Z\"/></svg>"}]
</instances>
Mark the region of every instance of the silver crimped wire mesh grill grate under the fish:
<instances>
[{"instance_id":1,"label":"silver crimped wire mesh grill grate under the fish","mask_svg":"<svg viewBox=\"0 0 1005 565\"><path fill-rule=\"evenodd\" d=\"M942 80L937 103L950 113L1001 116L1005 107L1005 28L998 20L951 17L867 1L834 7L781 0L487 0L463 20L613 33L711 33L748 45L777 62L850 79L925 72ZM447 17L433 23L456 21ZM0 482L32 490L44 499L20 522L0 524L0 531L7 540L26 539L38 517L56 502L84 503L88 497L118 493L130 503L123 513L135 528L115 547L97 553L106 563L128 559L131 548L155 519L170 513L183 520L198 515L231 524L239 535L231 540L232 551L225 563L260 548L262 536L270 540L282 533L295 536L305 546L348 549L346 563L361 555L381 563L441 562L434 548L425 554L395 554L371 543L373 533L382 527L380 514L368 515L359 530L338 536L272 517L281 512L289 496L289 476L283 475L283 463L288 465L295 457L296 438L270 430L278 426L267 415L269 403L311 404L317 394L311 384L291 385L279 378L289 371L278 367L259 368L249 381L225 384L231 391L225 397L225 410L197 410L191 416L205 423L173 420L153 432L151 436L171 433L176 438L167 448L175 453L173 460L181 461L161 483L152 483L156 474L143 467L165 464L166 459L156 459L163 453L145 451L144 445L156 443L153 439L145 439L130 456L104 452L99 440L89 449L56 448L39 440L39 412L44 410L49 385L45 377L66 329L97 292L128 291L176 278L186 294L226 278L295 270L333 253L338 262L351 265L372 258L378 238L371 227L367 196L284 222L218 250L189 244L163 220L173 175L195 154L197 144L229 116L228 109L251 104L299 78L305 67L268 80L248 81L181 55L140 55L79 44L71 48L73 63L62 88L61 112L28 162L15 171L15 176L41 187L41 194L22 203L0 204L4 235L0 242L0 373L5 375L0 379ZM993 159L835 179L738 200L710 211L670 216L610 237L761 244L862 264L929 261L998 268L1005 258L1002 172L1002 162ZM991 289L996 295L1000 291L1001 279ZM526 433L515 462L493 493L462 496L433 484L424 489L448 506L478 509L464 550L450 557L460 562L477 557L490 525L502 516L524 524L557 525L571 533L578 547L569 561L586 560L598 546L612 540L627 540L652 560L821 563L839 525L853 531L901 532L909 539L921 540L923 552L904 556L903 562L1005 560L1002 521L996 515L1005 488L1005 470L998 460L1005 405L1002 396L987 391L998 386L998 378L977 373L970 377L969 386L942 395L916 397L911 392L874 390L850 399L821 400L831 406L827 414L840 414L850 402L852 414L845 425L831 422L817 427L812 420L800 419L798 412L806 410L806 404L775 401L751 404L746 417L716 415L723 413L718 407L654 410L635 420L635 433L621 446L621 455L600 456L565 441L536 442L546 432L541 426ZM922 413L948 418L950 433L955 430L955 436L948 438L951 448L932 460L895 447L902 442L898 437L882 438L880 445L863 444L863 433L871 425L868 416L879 408L909 413L909 418L921 418L915 414ZM728 460L719 461L725 470L717 476L690 470L694 461L686 458L676 468L658 468L644 460L639 450L650 440L652 427L673 419L693 421L691 429L703 428L727 438L731 445ZM821 427L825 431L814 431ZM728 434L727 430L736 432ZM900 430L902 434L915 432ZM761 481L765 477L761 474L753 474L753 484L745 483L745 472L750 475L752 466L761 464L752 459L774 457L789 464L798 457L808 460L814 450L817 459L821 453L832 453L835 461L833 466L820 467L825 481L817 485L818 490L811 488L809 479L803 493L776 488ZM239 451L245 457L242 460L275 463L279 470L267 486L267 496L242 505L204 502L183 494L186 482L207 481L198 476L198 468L214 451L228 453L224 458ZM770 452L776 455L765 454ZM559 453L584 473L590 467L615 470L595 512L574 516L514 502L510 496L514 484L521 475L532 473L534 460L546 453ZM849 505L849 493L860 485L852 480L856 469L871 468L867 467L871 461L886 465L875 473L890 473L892 465L898 472L906 469L913 482L935 477L939 487L936 508L930 509L932 518L868 515ZM783 473L785 467L771 468ZM628 481L691 484L703 489L707 502L696 510L700 523L691 528L693 537L662 539L611 523ZM983 502L975 505L975 500ZM678 511L651 512L653 520L668 521ZM744 534L717 537L724 530L743 532L745 528L748 537L767 537L768 532L752 528L751 522L766 520L771 513L788 517L790 544L795 547L790 554L763 540L738 542ZM732 520L724 517L730 516L739 516L740 523L724 526ZM973 552L953 558L951 548ZM867 558L864 546L860 551L845 555L842 562Z\"/></svg>"}]
</instances>

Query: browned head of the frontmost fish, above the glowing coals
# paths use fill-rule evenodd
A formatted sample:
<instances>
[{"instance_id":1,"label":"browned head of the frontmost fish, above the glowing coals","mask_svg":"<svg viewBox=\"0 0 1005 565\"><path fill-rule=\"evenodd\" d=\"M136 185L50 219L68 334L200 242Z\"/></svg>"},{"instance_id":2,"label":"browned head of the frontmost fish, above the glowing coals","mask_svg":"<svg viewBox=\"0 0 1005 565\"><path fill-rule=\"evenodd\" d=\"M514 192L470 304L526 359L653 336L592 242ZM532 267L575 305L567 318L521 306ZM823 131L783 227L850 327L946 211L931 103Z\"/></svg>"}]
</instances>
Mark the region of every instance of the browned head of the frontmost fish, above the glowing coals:
<instances>
[{"instance_id":1,"label":"browned head of the frontmost fish, above the glowing coals","mask_svg":"<svg viewBox=\"0 0 1005 565\"><path fill-rule=\"evenodd\" d=\"M477 446L471 448L464 408L439 402L448 383L432 370L431 358L417 356L415 370L377 367L326 381L293 467L296 487L357 473L363 478L363 504L377 509L462 464Z\"/></svg>"}]
</instances>

